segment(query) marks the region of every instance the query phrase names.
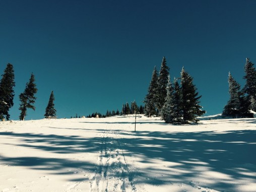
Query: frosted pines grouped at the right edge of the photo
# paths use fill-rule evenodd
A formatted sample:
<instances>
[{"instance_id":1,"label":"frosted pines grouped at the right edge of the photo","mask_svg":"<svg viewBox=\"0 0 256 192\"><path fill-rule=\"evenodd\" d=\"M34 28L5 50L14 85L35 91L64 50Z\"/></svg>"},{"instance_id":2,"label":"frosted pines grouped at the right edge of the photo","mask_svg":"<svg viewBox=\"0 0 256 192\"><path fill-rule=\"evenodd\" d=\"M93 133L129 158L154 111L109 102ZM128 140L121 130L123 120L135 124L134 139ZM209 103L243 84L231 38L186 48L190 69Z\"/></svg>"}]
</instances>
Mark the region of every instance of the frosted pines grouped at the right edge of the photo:
<instances>
[{"instance_id":1,"label":"frosted pines grouped at the right edge of the photo","mask_svg":"<svg viewBox=\"0 0 256 192\"><path fill-rule=\"evenodd\" d=\"M228 74L230 99L222 112L223 117L244 118L253 117L250 110L256 111L256 70L254 64L246 58L244 66L245 86L241 89L231 73Z\"/></svg>"}]
</instances>

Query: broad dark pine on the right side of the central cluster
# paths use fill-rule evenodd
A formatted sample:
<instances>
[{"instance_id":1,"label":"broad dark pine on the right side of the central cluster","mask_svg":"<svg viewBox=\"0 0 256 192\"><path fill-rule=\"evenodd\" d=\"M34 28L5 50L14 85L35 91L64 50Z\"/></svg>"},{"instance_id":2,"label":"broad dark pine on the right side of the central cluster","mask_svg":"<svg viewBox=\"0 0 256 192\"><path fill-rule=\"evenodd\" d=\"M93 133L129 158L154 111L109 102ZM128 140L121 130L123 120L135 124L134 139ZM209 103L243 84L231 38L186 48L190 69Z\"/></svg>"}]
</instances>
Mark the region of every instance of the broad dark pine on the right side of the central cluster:
<instances>
[{"instance_id":1,"label":"broad dark pine on the right side of the central cluster","mask_svg":"<svg viewBox=\"0 0 256 192\"><path fill-rule=\"evenodd\" d=\"M181 93L184 123L198 122L196 117L205 113L204 110L201 110L202 106L199 105L199 99L202 96L198 96L199 93L193 84L193 78L185 72L184 68L181 70Z\"/></svg>"}]
</instances>

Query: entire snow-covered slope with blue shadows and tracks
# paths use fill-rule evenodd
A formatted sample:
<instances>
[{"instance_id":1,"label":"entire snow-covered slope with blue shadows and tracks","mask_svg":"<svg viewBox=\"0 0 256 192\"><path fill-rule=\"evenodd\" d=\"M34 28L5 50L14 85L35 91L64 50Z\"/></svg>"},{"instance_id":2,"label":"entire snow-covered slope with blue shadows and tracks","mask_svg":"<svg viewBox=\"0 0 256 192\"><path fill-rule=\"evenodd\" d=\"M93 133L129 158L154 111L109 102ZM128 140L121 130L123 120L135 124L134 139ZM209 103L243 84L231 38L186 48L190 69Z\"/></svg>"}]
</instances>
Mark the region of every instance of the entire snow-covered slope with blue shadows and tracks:
<instances>
[{"instance_id":1,"label":"entire snow-covered slope with blue shadows and tracks","mask_svg":"<svg viewBox=\"0 0 256 192\"><path fill-rule=\"evenodd\" d=\"M0 191L256 191L256 118L0 122Z\"/></svg>"}]
</instances>

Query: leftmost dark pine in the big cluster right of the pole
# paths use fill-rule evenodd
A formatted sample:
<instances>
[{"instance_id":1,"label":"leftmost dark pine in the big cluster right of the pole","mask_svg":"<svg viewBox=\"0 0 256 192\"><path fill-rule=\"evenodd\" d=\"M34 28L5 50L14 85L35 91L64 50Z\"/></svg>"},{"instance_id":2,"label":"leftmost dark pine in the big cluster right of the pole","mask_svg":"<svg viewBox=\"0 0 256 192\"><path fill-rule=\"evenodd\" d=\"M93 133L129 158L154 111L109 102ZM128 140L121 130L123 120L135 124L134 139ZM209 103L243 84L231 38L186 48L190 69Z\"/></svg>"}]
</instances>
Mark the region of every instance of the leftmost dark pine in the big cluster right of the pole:
<instances>
[{"instance_id":1,"label":"leftmost dark pine in the big cluster right of the pole","mask_svg":"<svg viewBox=\"0 0 256 192\"><path fill-rule=\"evenodd\" d=\"M150 117L151 115L156 114L156 103L157 103L157 94L158 94L158 72L156 66L153 70L151 82L148 89L148 94L145 97L145 115Z\"/></svg>"}]
</instances>

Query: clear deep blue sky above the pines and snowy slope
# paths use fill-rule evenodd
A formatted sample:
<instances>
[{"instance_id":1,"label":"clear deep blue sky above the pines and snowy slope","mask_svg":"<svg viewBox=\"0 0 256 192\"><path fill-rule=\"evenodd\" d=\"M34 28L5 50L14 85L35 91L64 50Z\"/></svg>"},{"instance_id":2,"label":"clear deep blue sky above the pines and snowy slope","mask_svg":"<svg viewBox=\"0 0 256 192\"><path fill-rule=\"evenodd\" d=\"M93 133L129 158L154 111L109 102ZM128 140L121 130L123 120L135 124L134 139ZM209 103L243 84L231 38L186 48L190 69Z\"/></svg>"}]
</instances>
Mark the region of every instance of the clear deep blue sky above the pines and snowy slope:
<instances>
[{"instance_id":1,"label":"clear deep blue sky above the pines and snowy slope","mask_svg":"<svg viewBox=\"0 0 256 192\"><path fill-rule=\"evenodd\" d=\"M43 118L54 91L57 116L142 104L154 66L194 77L207 115L221 113L228 72L243 86L245 58L256 63L256 1L0 1L0 74L15 70L11 119L33 72Z\"/></svg>"}]
</instances>

